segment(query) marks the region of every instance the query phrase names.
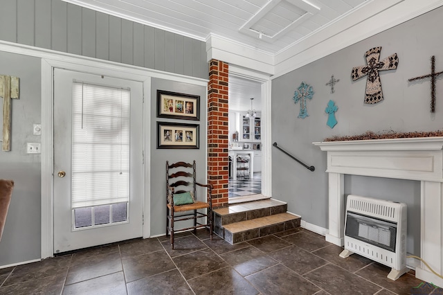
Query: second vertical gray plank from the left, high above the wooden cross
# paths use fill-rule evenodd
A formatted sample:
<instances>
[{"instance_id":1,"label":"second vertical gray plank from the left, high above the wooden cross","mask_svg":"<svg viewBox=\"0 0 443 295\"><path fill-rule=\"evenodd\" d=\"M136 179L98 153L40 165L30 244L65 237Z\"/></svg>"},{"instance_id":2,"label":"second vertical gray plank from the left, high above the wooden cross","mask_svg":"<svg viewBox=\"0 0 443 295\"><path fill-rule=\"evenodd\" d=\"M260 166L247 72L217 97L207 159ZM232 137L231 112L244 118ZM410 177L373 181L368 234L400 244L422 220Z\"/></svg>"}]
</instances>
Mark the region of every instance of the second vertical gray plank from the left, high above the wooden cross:
<instances>
[{"instance_id":1,"label":"second vertical gray plank from the left, high above the wooden cross","mask_svg":"<svg viewBox=\"0 0 443 295\"><path fill-rule=\"evenodd\" d=\"M34 1L17 0L17 42L34 46Z\"/></svg>"}]
</instances>

